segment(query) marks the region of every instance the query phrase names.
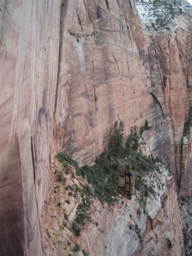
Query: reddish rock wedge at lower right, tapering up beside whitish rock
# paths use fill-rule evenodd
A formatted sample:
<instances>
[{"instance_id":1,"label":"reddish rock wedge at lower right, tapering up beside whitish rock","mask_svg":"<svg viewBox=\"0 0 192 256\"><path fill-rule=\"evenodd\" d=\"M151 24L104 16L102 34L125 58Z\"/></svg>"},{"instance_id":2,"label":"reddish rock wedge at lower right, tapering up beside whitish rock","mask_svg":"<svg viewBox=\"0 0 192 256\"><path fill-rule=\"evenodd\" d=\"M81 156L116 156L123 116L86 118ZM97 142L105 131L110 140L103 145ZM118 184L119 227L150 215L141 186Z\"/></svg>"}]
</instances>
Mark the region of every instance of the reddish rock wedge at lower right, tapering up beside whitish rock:
<instances>
[{"instance_id":1,"label":"reddish rock wedge at lower right, tapering up beside whitish rock","mask_svg":"<svg viewBox=\"0 0 192 256\"><path fill-rule=\"evenodd\" d=\"M146 227L140 244L133 256L147 255L185 255L182 224L175 193L175 183L170 179L161 197L162 208L157 215L146 219Z\"/></svg>"}]
</instances>

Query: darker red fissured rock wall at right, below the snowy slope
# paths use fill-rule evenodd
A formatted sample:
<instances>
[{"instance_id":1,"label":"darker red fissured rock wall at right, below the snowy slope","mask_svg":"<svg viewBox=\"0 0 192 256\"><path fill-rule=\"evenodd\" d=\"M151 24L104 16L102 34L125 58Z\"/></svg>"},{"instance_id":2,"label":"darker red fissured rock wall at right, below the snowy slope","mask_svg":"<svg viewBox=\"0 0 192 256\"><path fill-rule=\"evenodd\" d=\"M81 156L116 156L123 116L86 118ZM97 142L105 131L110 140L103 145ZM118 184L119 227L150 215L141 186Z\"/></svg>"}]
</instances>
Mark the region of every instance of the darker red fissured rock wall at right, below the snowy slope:
<instances>
[{"instance_id":1,"label":"darker red fissured rock wall at right, below the snowy slope","mask_svg":"<svg viewBox=\"0 0 192 256\"><path fill-rule=\"evenodd\" d=\"M152 136L157 143L151 143L152 150L169 163L177 191L185 196L192 191L192 173L187 167L191 163L190 131L183 137L185 122L191 125L190 23L190 16L175 20L171 30L164 30L148 47L151 95L158 105L153 122L155 134L149 135L148 144Z\"/></svg>"}]
</instances>

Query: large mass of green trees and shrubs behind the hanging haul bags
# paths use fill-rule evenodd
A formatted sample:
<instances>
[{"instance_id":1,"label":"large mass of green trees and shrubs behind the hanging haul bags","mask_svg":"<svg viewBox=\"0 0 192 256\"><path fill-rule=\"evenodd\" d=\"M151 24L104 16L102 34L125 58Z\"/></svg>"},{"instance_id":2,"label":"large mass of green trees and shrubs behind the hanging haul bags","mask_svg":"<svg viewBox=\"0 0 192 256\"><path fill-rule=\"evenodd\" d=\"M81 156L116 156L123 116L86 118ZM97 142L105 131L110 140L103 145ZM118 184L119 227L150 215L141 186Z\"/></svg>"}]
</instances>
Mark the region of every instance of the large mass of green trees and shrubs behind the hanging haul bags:
<instances>
[{"instance_id":1,"label":"large mass of green trees and shrubs behind the hanging haul bags","mask_svg":"<svg viewBox=\"0 0 192 256\"><path fill-rule=\"evenodd\" d=\"M143 129L151 129L147 120L145 120ZM154 171L158 171L156 165L157 159L152 155L146 157L142 154L142 151L139 150L140 135L137 133L136 126L131 129L125 147L123 145L123 136L124 124L121 120L119 120L119 122L116 121L113 129L109 132L108 151L102 152L93 166L85 165L81 168L79 168L79 166L77 167L76 174L81 175L81 177L86 179L89 184L85 184L81 187L76 186L75 188L75 193L80 192L82 201L84 202L77 207L76 218L73 222L76 225L79 224L84 226L85 222L90 220L87 215L87 210L91 204L91 197L98 198L102 204L111 204L115 201L118 202L117 195L124 195L124 191L117 187L117 181L119 174L122 173L125 165L125 157L128 157L128 165L132 167L132 172L136 177L135 189L144 195L144 197L141 197L140 199L140 205L143 210L145 210L146 205L146 200L144 198L147 198L150 195L156 195L153 186L147 184L146 176L153 176ZM66 157L65 154L59 154L58 159L63 163L66 159L70 158ZM73 163L73 160L70 159L70 163ZM77 163L75 162L75 165L76 164ZM73 190L73 187L68 185L65 189ZM71 193L69 195L71 195ZM72 230L78 233L78 228L77 226L74 226L75 224L73 224Z\"/></svg>"}]
</instances>

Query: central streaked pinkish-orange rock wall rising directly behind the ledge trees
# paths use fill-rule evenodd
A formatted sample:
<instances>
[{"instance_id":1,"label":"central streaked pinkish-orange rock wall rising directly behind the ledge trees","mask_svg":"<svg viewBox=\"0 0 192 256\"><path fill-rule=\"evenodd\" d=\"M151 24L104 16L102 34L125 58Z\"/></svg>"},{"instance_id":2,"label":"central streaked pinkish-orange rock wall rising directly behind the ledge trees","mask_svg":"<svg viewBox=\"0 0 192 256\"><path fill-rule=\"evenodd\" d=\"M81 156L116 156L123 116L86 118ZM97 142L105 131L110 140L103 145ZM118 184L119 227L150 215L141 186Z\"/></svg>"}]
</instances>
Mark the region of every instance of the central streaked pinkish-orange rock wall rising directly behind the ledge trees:
<instances>
[{"instance_id":1,"label":"central streaked pinkish-orange rock wall rising directly behind the ledge trees","mask_svg":"<svg viewBox=\"0 0 192 256\"><path fill-rule=\"evenodd\" d=\"M129 1L73 1L63 20L55 132L80 164L103 150L109 129L124 118L124 105L127 131L142 120L139 88L147 82L139 79L143 37L132 7Z\"/></svg>"}]
</instances>

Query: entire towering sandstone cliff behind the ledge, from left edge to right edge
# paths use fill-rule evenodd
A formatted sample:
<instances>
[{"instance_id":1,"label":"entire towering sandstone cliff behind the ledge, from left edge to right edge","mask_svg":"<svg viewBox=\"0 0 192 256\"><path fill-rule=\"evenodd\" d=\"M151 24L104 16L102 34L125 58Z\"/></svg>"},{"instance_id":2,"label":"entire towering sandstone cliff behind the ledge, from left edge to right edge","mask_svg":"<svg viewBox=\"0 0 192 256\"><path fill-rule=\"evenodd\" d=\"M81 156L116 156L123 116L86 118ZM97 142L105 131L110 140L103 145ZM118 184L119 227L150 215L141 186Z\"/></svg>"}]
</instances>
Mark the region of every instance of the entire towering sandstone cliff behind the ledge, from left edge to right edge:
<instances>
[{"instance_id":1,"label":"entire towering sandstone cliff behind the ledge, from left edge to right edge","mask_svg":"<svg viewBox=\"0 0 192 256\"><path fill-rule=\"evenodd\" d=\"M153 43L132 0L3 0L0 24L2 255L44 255L53 156L92 163L124 113L126 134L148 119L150 152L169 163L180 194L191 193L190 15Z\"/></svg>"}]
</instances>

